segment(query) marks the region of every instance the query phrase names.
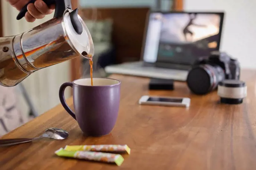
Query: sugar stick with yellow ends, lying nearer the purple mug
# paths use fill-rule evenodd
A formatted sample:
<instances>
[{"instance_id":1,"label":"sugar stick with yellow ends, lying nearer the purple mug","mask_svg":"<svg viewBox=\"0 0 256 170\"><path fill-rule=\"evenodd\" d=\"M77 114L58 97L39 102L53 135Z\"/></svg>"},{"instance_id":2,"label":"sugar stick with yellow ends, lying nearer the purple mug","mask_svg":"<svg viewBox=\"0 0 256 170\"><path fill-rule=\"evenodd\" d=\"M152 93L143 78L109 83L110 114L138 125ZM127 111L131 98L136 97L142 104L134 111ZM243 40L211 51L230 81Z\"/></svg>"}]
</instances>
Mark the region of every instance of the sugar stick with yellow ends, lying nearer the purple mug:
<instances>
[{"instance_id":1,"label":"sugar stick with yellow ends, lying nearer the purple mug","mask_svg":"<svg viewBox=\"0 0 256 170\"><path fill-rule=\"evenodd\" d=\"M98 152L126 152L130 155L131 149L127 145L67 145L65 150L98 151Z\"/></svg>"}]
</instances>

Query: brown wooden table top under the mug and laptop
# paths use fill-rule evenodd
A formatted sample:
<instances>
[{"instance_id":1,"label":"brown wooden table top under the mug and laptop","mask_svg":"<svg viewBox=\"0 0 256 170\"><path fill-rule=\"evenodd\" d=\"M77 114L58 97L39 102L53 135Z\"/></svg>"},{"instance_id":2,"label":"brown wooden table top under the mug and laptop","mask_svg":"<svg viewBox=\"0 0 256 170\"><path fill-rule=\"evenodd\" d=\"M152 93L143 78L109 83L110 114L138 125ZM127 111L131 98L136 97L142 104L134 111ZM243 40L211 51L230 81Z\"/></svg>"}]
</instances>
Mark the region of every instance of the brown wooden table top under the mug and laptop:
<instances>
[{"instance_id":1,"label":"brown wooden table top under the mug and laptop","mask_svg":"<svg viewBox=\"0 0 256 170\"><path fill-rule=\"evenodd\" d=\"M149 79L112 75L122 82L119 117L110 135L84 137L73 118L56 106L3 138L36 137L47 127L67 130L64 141L40 140L0 148L1 170L255 170L256 71L243 71L248 96L241 105L221 105L216 92L195 96L185 83L174 91L148 91ZM142 95L190 97L190 108L142 106ZM72 99L68 100L72 105ZM127 144L131 155L116 165L64 159L65 145Z\"/></svg>"}]
</instances>

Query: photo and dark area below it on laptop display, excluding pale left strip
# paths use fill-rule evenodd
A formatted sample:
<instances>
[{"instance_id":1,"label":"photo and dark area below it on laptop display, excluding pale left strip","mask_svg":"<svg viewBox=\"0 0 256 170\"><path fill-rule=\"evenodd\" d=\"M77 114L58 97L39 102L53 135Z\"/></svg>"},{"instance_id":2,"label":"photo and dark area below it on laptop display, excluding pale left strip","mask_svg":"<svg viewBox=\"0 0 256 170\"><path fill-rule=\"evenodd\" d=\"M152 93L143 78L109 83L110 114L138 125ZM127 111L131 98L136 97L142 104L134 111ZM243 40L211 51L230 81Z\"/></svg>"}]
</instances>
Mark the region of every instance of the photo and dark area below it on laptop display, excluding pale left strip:
<instances>
[{"instance_id":1,"label":"photo and dark area below it on laptop display, excluding pale left strip","mask_svg":"<svg viewBox=\"0 0 256 170\"><path fill-rule=\"evenodd\" d=\"M161 15L157 62L191 65L219 50L223 13L169 13Z\"/></svg>"}]
</instances>

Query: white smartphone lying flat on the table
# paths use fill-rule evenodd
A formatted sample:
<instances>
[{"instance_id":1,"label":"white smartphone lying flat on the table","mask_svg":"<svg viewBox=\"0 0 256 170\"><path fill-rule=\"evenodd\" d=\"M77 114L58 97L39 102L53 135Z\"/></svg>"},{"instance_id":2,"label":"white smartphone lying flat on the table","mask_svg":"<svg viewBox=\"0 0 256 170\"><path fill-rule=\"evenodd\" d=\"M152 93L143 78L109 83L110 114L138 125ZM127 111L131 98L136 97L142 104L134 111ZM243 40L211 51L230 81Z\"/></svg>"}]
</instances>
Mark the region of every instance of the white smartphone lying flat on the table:
<instances>
[{"instance_id":1,"label":"white smartphone lying flat on the table","mask_svg":"<svg viewBox=\"0 0 256 170\"><path fill-rule=\"evenodd\" d=\"M142 96L139 104L189 107L190 99L183 97Z\"/></svg>"}]
</instances>

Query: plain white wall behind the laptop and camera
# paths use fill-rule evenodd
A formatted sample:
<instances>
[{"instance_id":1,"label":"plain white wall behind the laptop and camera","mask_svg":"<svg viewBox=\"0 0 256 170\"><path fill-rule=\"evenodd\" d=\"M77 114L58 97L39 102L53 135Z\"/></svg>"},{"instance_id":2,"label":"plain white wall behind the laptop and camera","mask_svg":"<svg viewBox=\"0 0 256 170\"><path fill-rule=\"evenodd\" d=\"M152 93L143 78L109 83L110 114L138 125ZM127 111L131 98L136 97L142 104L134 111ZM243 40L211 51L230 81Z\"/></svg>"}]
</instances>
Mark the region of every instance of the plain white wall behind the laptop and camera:
<instances>
[{"instance_id":1,"label":"plain white wall behind the laptop and camera","mask_svg":"<svg viewBox=\"0 0 256 170\"><path fill-rule=\"evenodd\" d=\"M256 68L256 0L184 0L186 11L224 11L221 50Z\"/></svg>"}]
</instances>

